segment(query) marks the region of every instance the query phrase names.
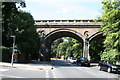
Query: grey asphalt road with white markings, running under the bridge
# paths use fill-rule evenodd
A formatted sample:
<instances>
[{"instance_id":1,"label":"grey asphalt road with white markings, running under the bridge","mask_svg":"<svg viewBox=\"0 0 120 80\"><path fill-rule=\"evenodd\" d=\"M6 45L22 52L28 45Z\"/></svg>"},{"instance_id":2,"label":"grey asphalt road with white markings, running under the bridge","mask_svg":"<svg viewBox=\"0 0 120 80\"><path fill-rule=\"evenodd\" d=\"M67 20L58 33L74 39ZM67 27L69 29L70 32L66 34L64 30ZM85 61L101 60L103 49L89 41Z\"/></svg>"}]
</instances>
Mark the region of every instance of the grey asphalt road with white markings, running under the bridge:
<instances>
[{"instance_id":1,"label":"grey asphalt road with white markings, running under the bridge","mask_svg":"<svg viewBox=\"0 0 120 80\"><path fill-rule=\"evenodd\" d=\"M0 68L2 78L118 78L118 74L99 71L96 66L83 67L64 60L53 60L51 70Z\"/></svg>"}]
</instances>

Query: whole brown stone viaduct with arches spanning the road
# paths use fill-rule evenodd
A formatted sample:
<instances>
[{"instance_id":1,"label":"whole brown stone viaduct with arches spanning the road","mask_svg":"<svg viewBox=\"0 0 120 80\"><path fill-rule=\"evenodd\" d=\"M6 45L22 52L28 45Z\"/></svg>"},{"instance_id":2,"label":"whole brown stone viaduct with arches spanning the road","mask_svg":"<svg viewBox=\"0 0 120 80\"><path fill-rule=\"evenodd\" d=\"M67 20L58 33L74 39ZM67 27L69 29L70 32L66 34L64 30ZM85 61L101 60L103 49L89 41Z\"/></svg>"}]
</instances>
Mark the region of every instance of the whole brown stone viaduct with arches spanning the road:
<instances>
[{"instance_id":1,"label":"whole brown stone viaduct with arches spanning the road","mask_svg":"<svg viewBox=\"0 0 120 80\"><path fill-rule=\"evenodd\" d=\"M61 37L72 37L82 42L83 57L90 59L89 42L96 36L102 34L99 32L101 22L93 20L36 20L36 31L40 33L42 46L47 48L49 53L44 54L46 60L49 60L51 43ZM43 48L44 49L44 48Z\"/></svg>"}]
</instances>

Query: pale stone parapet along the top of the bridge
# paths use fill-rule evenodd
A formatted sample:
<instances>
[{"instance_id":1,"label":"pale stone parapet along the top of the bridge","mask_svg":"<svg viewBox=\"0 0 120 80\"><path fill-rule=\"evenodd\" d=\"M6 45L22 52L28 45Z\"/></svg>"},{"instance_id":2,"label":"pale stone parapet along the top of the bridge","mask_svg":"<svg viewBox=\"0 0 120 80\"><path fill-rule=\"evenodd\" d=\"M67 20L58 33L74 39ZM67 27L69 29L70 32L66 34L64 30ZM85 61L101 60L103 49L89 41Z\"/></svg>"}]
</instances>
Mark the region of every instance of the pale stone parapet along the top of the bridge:
<instances>
[{"instance_id":1,"label":"pale stone parapet along the top of the bridge","mask_svg":"<svg viewBox=\"0 0 120 80\"><path fill-rule=\"evenodd\" d=\"M93 20L36 20L35 25L102 25Z\"/></svg>"}]
</instances>

